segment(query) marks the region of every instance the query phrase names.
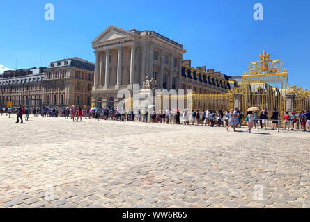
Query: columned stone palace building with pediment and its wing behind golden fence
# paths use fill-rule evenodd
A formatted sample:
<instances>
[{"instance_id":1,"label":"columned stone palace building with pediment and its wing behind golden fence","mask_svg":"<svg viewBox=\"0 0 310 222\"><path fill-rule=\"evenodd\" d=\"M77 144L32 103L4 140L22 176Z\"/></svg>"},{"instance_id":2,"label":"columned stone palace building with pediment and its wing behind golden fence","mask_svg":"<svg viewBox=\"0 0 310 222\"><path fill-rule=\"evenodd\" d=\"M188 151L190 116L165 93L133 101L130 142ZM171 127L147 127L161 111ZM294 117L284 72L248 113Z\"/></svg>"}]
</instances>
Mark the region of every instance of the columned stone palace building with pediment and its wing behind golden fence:
<instances>
[{"instance_id":1,"label":"columned stone palace building with pediment and its wing behind golden fence","mask_svg":"<svg viewBox=\"0 0 310 222\"><path fill-rule=\"evenodd\" d=\"M193 89L196 94L226 93L235 82L206 67L190 67L183 61L183 45L155 31L125 31L109 26L93 42L95 78L92 102L98 107L116 107L119 89L143 85L146 76L156 89Z\"/></svg>"}]
</instances>

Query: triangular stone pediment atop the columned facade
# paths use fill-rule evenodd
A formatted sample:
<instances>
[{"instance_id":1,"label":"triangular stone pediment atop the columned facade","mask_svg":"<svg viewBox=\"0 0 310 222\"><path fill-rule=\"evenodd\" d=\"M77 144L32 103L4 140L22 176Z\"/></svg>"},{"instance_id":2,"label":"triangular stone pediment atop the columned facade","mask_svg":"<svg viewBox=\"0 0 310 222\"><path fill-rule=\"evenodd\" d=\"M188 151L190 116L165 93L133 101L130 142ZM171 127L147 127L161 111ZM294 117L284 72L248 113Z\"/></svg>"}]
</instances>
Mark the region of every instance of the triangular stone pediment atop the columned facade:
<instances>
[{"instance_id":1,"label":"triangular stone pediment atop the columned facade","mask_svg":"<svg viewBox=\"0 0 310 222\"><path fill-rule=\"evenodd\" d=\"M91 44L97 44L100 42L107 42L109 40L118 39L121 37L127 37L133 35L133 33L130 33L129 31L125 31L121 28L116 28L114 26L109 26L103 33L101 33Z\"/></svg>"}]
</instances>

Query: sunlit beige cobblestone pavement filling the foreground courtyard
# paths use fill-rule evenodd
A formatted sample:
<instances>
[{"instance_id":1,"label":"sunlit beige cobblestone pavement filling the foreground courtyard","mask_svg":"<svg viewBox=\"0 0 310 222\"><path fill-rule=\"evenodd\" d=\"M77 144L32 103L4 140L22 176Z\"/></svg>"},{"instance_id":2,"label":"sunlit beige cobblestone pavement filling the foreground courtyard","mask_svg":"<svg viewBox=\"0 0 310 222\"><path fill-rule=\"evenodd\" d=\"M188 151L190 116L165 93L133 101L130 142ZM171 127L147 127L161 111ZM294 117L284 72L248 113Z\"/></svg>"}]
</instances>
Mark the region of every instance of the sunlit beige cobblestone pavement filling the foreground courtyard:
<instances>
[{"instance_id":1,"label":"sunlit beige cobblestone pavement filling the foreground courtyard","mask_svg":"<svg viewBox=\"0 0 310 222\"><path fill-rule=\"evenodd\" d=\"M310 207L310 133L0 116L0 207Z\"/></svg>"}]
</instances>

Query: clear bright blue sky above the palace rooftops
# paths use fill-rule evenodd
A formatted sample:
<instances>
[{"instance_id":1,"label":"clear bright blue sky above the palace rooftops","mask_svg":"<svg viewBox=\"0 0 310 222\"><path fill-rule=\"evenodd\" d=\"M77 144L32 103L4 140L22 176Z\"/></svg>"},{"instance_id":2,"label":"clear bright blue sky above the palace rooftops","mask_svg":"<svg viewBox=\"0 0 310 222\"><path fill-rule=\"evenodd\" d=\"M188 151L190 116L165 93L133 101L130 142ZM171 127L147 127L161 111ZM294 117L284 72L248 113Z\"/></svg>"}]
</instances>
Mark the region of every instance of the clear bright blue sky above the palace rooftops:
<instances>
[{"instance_id":1,"label":"clear bright blue sky above the palace rooftops","mask_svg":"<svg viewBox=\"0 0 310 222\"><path fill-rule=\"evenodd\" d=\"M46 3L55 20L45 21ZM255 3L263 21L253 19ZM183 44L192 66L240 75L264 50L284 62L290 85L310 89L310 1L0 0L0 70L47 66L79 56L94 62L91 41L109 25L154 30Z\"/></svg>"}]
</instances>

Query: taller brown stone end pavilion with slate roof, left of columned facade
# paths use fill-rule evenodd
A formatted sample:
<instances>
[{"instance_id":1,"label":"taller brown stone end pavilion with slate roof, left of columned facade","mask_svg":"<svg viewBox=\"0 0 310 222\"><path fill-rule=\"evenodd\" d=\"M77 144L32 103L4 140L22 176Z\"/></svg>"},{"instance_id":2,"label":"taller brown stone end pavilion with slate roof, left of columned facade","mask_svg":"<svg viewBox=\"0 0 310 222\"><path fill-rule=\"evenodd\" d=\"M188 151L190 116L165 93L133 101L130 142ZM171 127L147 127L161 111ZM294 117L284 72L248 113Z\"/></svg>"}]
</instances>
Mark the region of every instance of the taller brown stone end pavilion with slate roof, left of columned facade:
<instances>
[{"instance_id":1,"label":"taller brown stone end pavilion with slate roof, left of columned facade","mask_svg":"<svg viewBox=\"0 0 310 222\"><path fill-rule=\"evenodd\" d=\"M95 65L82 58L51 62L45 69L43 103L55 106L91 106Z\"/></svg>"}]
</instances>

